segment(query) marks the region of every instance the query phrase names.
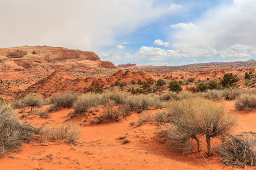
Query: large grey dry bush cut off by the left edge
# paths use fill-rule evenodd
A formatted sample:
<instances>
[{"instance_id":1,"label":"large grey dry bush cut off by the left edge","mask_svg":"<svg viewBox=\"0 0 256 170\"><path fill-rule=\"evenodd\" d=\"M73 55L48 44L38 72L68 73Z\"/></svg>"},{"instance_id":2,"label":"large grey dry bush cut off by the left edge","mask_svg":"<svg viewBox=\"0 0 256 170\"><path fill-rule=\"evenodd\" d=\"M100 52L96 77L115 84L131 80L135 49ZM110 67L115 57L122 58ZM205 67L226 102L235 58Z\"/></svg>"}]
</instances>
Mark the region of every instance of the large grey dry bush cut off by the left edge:
<instances>
[{"instance_id":1,"label":"large grey dry bush cut off by the left edge","mask_svg":"<svg viewBox=\"0 0 256 170\"><path fill-rule=\"evenodd\" d=\"M21 124L16 112L7 103L0 103L0 157L9 151L19 151L23 142L34 139L35 128Z\"/></svg>"}]
</instances>

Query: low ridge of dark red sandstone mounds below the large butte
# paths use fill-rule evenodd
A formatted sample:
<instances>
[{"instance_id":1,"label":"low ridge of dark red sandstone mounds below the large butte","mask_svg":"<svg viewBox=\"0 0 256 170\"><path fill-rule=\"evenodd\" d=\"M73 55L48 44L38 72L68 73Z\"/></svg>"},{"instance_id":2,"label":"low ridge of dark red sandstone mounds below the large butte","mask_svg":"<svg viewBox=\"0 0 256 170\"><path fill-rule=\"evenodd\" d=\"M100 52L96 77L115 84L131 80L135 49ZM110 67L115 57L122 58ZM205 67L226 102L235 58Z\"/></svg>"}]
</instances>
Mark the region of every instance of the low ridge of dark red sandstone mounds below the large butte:
<instances>
[{"instance_id":1,"label":"low ridge of dark red sandstone mounds below the large butte","mask_svg":"<svg viewBox=\"0 0 256 170\"><path fill-rule=\"evenodd\" d=\"M155 79L143 71L131 72L127 70L124 73L122 70L119 70L117 73L114 73L106 79L97 77L88 77L84 79L81 76L74 76L64 70L56 70L46 78L40 79L38 82L32 84L26 90L19 92L17 97L24 96L30 92L37 92L38 94L44 94L46 96L51 96L55 92L65 91L76 91L82 93L88 91L89 87L102 87L102 84L104 84L104 87L110 86L115 81L130 84L132 79L136 81L141 79L146 82L156 82Z\"/></svg>"}]
</instances>

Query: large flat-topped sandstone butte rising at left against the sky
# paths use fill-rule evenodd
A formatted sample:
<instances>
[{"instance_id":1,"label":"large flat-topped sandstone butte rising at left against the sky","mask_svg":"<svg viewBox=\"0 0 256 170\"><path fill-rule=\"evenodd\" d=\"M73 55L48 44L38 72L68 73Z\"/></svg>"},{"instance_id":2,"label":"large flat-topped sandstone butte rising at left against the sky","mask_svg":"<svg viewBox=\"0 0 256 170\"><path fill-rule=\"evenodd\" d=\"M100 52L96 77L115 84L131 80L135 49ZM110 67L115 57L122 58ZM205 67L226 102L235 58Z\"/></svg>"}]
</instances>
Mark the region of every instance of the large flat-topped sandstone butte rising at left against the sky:
<instances>
[{"instance_id":1,"label":"large flat-topped sandstone butte rising at left against the sky","mask_svg":"<svg viewBox=\"0 0 256 170\"><path fill-rule=\"evenodd\" d=\"M61 47L19 46L0 49L0 70L20 71L40 69L71 69L74 67L105 67L117 69L109 61L101 61L97 54Z\"/></svg>"}]
</instances>

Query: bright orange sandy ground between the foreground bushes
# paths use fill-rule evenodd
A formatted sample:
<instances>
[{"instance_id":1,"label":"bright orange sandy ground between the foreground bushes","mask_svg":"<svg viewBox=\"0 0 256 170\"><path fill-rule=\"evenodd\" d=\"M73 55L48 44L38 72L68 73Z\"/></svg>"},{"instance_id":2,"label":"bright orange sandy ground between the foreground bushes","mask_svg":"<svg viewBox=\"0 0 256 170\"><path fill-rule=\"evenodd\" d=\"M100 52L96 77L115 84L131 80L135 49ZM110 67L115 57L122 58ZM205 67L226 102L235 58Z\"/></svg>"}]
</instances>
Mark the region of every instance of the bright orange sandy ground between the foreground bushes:
<instances>
[{"instance_id":1,"label":"bright orange sandy ground between the foreground bushes","mask_svg":"<svg viewBox=\"0 0 256 170\"><path fill-rule=\"evenodd\" d=\"M233 114L239 115L239 125L233 134L242 131L256 131L255 111L236 111L234 101L224 101L226 108ZM39 108L46 110L48 106ZM92 109L96 114L101 107ZM27 111L29 111L27 109ZM42 119L32 114L27 117L32 125L61 124L70 117L68 113L73 108L61 109L50 114L50 118ZM97 112L98 111L98 112ZM154 109L145 112L158 113L162 110ZM23 114L27 114L26 112ZM63 141L47 143L27 143L22 151L6 154L0 159L0 169L230 169L221 162L216 154L207 156L207 148L201 145L201 153L195 151L189 155L181 155L171 151L164 143L164 137L159 137L161 125L148 122L137 126L138 113L122 119L119 122L92 124L83 126L93 120L94 115L74 118L72 122L81 127L80 143L76 146ZM21 113L18 114L21 116ZM23 119L25 120L25 119ZM130 122L135 122L131 125ZM131 141L124 144L118 138L127 135ZM201 138L205 143L205 139ZM214 143L216 139L213 139ZM234 168L236 169L236 168ZM247 169L254 169L247 166Z\"/></svg>"}]
</instances>

